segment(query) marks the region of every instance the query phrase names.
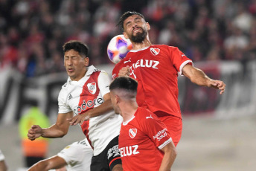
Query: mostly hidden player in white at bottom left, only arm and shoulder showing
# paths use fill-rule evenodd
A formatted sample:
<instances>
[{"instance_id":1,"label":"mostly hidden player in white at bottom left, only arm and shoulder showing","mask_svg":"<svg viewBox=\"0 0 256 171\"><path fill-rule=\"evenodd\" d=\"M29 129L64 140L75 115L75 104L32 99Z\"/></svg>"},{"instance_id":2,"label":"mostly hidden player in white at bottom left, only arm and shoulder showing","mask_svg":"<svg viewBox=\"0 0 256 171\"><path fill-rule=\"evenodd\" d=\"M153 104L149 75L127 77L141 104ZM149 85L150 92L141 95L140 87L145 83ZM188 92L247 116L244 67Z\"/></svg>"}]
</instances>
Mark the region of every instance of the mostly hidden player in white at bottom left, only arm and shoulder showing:
<instances>
[{"instance_id":1,"label":"mostly hidden player in white at bottom left, only arm and shoulder showing","mask_svg":"<svg viewBox=\"0 0 256 171\"><path fill-rule=\"evenodd\" d=\"M84 139L71 143L51 158L33 164L28 171L55 170L62 167L67 171L90 171L92 155L92 147Z\"/></svg>"}]
</instances>

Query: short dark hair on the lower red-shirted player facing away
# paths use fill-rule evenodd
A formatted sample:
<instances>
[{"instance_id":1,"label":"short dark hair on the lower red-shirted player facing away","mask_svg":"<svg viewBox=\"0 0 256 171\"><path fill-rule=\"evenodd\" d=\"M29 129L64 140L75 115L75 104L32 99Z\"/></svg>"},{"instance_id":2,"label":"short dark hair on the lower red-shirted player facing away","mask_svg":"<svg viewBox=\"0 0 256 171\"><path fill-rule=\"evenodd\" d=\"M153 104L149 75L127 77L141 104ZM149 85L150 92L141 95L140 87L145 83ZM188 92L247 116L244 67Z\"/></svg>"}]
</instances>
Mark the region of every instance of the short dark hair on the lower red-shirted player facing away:
<instances>
[{"instance_id":1,"label":"short dark hair on the lower red-shirted player facing away","mask_svg":"<svg viewBox=\"0 0 256 171\"><path fill-rule=\"evenodd\" d=\"M132 93L137 93L138 83L131 77L117 77L109 86L110 91L123 89Z\"/></svg>"}]
</instances>

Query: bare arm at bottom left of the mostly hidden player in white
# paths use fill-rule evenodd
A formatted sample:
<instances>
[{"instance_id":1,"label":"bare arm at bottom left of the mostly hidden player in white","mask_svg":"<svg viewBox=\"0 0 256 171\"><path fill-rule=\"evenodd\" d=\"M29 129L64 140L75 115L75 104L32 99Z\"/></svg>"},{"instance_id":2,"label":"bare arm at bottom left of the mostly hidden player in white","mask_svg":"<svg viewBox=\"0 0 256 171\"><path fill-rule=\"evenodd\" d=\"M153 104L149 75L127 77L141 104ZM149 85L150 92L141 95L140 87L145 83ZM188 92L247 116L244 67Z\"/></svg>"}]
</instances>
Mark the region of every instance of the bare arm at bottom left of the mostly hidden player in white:
<instances>
[{"instance_id":1,"label":"bare arm at bottom left of the mostly hidden player in white","mask_svg":"<svg viewBox=\"0 0 256 171\"><path fill-rule=\"evenodd\" d=\"M60 158L57 155L54 155L51 158L42 160L37 162L36 164L33 164L31 168L28 169L28 171L47 171L47 170L54 170L54 169L60 169L62 167L65 167L67 163L63 158Z\"/></svg>"}]
</instances>

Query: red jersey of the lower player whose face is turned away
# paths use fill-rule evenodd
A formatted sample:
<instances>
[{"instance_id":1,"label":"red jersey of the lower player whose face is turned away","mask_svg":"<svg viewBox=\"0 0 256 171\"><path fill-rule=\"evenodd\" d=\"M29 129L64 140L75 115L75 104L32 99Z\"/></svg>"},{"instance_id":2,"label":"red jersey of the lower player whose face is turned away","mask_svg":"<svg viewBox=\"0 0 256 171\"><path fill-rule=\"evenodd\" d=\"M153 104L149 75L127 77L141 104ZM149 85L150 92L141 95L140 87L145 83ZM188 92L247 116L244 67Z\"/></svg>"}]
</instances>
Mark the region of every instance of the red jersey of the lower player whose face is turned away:
<instances>
[{"instance_id":1,"label":"red jersey of the lower player whose face is turned away","mask_svg":"<svg viewBox=\"0 0 256 171\"><path fill-rule=\"evenodd\" d=\"M138 107L134 116L122 123L119 135L124 171L159 170L164 156L161 148L171 141L170 133L156 114Z\"/></svg>"}]
</instances>

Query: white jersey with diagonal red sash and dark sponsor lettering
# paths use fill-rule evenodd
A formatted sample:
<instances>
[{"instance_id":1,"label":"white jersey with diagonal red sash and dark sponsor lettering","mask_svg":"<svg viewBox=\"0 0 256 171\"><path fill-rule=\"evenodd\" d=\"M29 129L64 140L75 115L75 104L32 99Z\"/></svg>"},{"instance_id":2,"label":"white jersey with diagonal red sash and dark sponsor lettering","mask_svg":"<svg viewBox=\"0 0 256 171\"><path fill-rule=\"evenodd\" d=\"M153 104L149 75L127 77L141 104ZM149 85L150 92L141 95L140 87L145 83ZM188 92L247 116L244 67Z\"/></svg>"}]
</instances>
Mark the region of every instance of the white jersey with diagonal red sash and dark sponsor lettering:
<instances>
[{"instance_id":1,"label":"white jersey with diagonal red sash and dark sponsor lettering","mask_svg":"<svg viewBox=\"0 0 256 171\"><path fill-rule=\"evenodd\" d=\"M109 93L110 79L105 71L89 66L86 75L79 81L72 81L68 77L60 91L59 113L73 111L81 114L103 103L103 96ZM100 154L113 138L119 135L122 117L114 111L83 122L81 128L94 149L94 155Z\"/></svg>"}]
</instances>

